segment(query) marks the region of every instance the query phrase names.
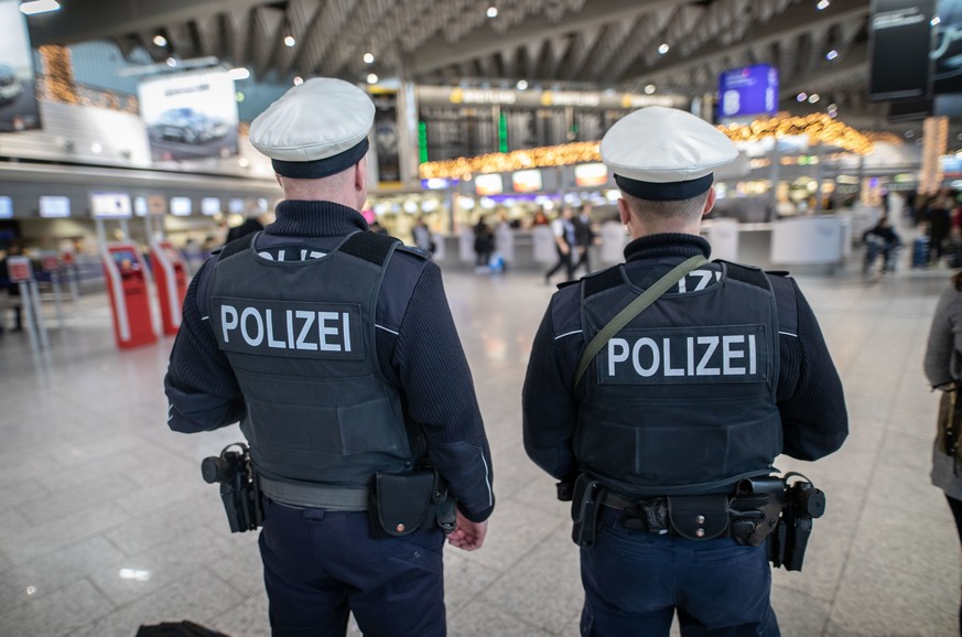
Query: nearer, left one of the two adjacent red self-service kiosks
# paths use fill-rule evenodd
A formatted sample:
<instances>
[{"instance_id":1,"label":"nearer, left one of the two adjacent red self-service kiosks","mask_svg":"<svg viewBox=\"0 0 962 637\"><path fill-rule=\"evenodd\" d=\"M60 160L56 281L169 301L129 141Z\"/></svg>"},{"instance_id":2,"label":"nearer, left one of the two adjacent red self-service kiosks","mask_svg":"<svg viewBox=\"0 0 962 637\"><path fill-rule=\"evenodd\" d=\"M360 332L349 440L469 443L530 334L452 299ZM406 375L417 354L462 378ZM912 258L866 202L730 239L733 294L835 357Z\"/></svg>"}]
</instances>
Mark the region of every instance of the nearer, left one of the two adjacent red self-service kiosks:
<instances>
[{"instance_id":1,"label":"nearer, left one of the two adjacent red self-service kiosks","mask_svg":"<svg viewBox=\"0 0 962 637\"><path fill-rule=\"evenodd\" d=\"M150 294L147 266L137 244L110 242L100 250L110 310L114 314L114 335L121 348L156 342L150 314Z\"/></svg>"}]
</instances>

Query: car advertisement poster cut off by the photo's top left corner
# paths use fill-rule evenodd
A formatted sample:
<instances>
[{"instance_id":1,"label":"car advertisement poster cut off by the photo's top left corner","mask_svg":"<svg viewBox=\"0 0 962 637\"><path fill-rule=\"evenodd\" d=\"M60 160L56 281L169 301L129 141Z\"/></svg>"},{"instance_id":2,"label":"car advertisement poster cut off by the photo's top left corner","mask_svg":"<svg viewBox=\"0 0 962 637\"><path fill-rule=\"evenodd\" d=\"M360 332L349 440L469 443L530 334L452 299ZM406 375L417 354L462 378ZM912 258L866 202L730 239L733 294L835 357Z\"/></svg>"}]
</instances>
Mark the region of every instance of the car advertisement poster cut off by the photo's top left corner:
<instances>
[{"instance_id":1,"label":"car advertisement poster cut off by the photo's top left corner","mask_svg":"<svg viewBox=\"0 0 962 637\"><path fill-rule=\"evenodd\" d=\"M40 128L33 51L20 0L0 0L0 132Z\"/></svg>"}]
</instances>

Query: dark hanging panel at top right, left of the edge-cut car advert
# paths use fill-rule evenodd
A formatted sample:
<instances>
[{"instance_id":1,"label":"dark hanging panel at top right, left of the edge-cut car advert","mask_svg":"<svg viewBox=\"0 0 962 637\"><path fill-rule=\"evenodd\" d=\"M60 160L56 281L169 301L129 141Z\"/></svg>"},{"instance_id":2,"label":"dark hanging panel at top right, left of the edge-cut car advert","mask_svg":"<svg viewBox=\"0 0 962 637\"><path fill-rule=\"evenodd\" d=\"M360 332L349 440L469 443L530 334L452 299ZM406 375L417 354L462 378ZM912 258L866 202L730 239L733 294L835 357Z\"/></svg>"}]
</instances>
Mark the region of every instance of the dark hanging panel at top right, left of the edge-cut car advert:
<instances>
[{"instance_id":1,"label":"dark hanging panel at top right, left of the edge-cut car advert","mask_svg":"<svg viewBox=\"0 0 962 637\"><path fill-rule=\"evenodd\" d=\"M872 73L874 100L918 99L931 93L931 34L936 0L874 0Z\"/></svg>"}]
</instances>

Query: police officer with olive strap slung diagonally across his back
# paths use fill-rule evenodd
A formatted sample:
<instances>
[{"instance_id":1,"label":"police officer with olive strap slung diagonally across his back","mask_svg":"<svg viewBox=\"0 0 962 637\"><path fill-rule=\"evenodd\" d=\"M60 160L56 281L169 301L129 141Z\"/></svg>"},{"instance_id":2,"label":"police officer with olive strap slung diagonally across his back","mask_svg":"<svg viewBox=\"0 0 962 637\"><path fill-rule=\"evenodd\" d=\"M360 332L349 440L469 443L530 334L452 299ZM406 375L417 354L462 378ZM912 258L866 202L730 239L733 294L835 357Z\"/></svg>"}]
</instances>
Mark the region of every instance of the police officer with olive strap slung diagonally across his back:
<instances>
[{"instance_id":1,"label":"police officer with olive strap slung diagonally across his back","mask_svg":"<svg viewBox=\"0 0 962 637\"><path fill-rule=\"evenodd\" d=\"M706 260L712 174L737 155L721 131L650 107L601 153L626 262L560 285L523 389L526 450L573 499L582 634L667 636L677 613L684 636L778 635L759 518L780 511L771 463L841 446L839 376L795 281Z\"/></svg>"}]
</instances>

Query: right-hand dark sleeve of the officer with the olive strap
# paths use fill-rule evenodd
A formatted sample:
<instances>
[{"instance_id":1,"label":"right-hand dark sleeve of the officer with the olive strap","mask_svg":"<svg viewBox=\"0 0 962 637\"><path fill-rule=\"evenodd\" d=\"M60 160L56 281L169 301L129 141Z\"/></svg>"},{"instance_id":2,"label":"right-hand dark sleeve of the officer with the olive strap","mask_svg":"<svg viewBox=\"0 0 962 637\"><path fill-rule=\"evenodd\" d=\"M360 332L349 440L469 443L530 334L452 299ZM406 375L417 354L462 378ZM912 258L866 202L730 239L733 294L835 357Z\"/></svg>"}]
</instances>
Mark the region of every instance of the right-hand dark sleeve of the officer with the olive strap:
<instances>
[{"instance_id":1,"label":"right-hand dark sleeve of the officer with the olive strap","mask_svg":"<svg viewBox=\"0 0 962 637\"><path fill-rule=\"evenodd\" d=\"M813 461L837 451L848 435L842 380L811 306L792 281L798 334L780 335L778 409L782 453Z\"/></svg>"}]
</instances>

